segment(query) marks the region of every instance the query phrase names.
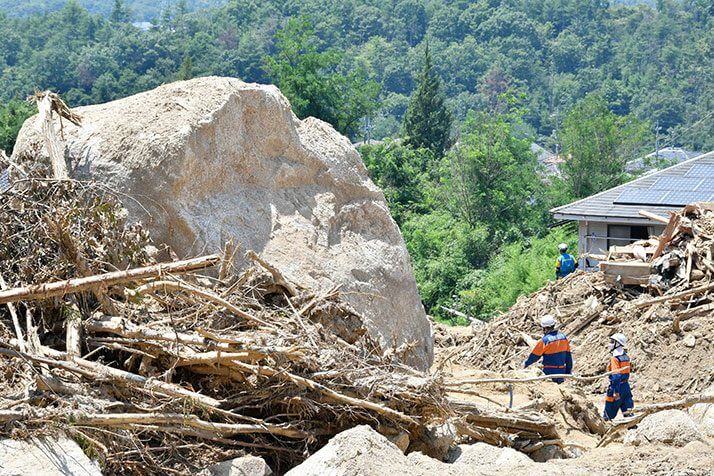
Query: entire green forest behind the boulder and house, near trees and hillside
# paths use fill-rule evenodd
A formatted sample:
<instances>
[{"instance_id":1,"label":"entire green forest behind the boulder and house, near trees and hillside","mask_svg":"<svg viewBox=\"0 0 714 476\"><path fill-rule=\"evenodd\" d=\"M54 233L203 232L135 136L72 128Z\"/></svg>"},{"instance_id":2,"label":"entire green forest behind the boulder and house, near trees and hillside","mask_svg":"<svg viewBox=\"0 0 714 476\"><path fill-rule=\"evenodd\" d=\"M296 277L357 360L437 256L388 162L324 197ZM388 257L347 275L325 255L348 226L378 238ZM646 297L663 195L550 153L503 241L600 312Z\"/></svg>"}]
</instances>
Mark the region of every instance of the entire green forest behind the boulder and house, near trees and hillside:
<instances>
[{"instance_id":1,"label":"entire green forest behind the boulder and house, near trees and hillside","mask_svg":"<svg viewBox=\"0 0 714 476\"><path fill-rule=\"evenodd\" d=\"M436 316L487 318L552 279L575 238L548 210L627 180L655 141L714 149L708 0L162 3L0 0L0 148L36 89L79 106L195 76L277 84L364 144Z\"/></svg>"}]
</instances>

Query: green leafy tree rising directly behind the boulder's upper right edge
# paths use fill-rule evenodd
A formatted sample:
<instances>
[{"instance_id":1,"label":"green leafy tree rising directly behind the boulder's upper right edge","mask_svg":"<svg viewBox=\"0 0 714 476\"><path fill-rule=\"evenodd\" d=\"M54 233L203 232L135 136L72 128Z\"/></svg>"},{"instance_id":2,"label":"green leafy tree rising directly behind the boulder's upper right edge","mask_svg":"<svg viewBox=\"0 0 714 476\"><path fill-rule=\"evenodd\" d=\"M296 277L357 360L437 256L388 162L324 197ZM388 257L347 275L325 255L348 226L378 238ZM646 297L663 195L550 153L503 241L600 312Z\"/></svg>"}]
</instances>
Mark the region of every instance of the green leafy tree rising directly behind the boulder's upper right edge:
<instances>
[{"instance_id":1,"label":"green leafy tree rising directly behind the boulder's upper right edge","mask_svg":"<svg viewBox=\"0 0 714 476\"><path fill-rule=\"evenodd\" d=\"M342 54L320 51L320 43L308 18L291 18L276 34L277 52L265 58L265 68L298 117L317 117L354 134L374 110L379 86L361 70L340 73Z\"/></svg>"}]
</instances>

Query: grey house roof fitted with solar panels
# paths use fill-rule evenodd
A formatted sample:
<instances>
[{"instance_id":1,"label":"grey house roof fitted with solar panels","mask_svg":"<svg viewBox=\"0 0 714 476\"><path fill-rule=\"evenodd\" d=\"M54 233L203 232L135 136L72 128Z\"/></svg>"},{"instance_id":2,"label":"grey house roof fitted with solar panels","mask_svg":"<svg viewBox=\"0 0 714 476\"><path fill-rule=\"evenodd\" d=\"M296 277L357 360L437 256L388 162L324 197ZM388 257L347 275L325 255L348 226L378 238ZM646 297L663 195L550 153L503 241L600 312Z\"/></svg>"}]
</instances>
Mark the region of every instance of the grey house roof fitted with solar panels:
<instances>
[{"instance_id":1,"label":"grey house roof fitted with solar panels","mask_svg":"<svg viewBox=\"0 0 714 476\"><path fill-rule=\"evenodd\" d=\"M687 182L698 183L696 190ZM676 198L668 201L663 199L666 196ZM651 223L651 220L639 214L640 210L667 216L667 212L679 210L686 204L675 203L682 200L714 200L714 151L554 208L550 212L558 220Z\"/></svg>"}]
</instances>

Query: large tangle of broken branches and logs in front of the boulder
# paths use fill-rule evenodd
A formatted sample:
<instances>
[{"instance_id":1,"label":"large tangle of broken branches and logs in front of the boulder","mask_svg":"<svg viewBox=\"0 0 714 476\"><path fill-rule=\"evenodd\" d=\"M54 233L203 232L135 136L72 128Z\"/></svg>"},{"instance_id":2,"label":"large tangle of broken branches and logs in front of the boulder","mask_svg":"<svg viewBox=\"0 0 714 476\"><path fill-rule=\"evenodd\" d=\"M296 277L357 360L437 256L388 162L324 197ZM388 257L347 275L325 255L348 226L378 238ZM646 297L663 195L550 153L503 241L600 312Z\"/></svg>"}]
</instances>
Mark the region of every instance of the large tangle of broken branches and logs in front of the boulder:
<instances>
[{"instance_id":1,"label":"large tangle of broken branches and logs in front of the boulder","mask_svg":"<svg viewBox=\"0 0 714 476\"><path fill-rule=\"evenodd\" d=\"M283 472L361 424L437 457L456 438L558 439L537 411L448 399L440 376L400 363L409 346L380 348L339 289L311 292L250 251L237 272L231 245L157 262L171 250L125 218L96 184L27 179L2 194L4 435L64 432L122 474L245 451Z\"/></svg>"}]
</instances>

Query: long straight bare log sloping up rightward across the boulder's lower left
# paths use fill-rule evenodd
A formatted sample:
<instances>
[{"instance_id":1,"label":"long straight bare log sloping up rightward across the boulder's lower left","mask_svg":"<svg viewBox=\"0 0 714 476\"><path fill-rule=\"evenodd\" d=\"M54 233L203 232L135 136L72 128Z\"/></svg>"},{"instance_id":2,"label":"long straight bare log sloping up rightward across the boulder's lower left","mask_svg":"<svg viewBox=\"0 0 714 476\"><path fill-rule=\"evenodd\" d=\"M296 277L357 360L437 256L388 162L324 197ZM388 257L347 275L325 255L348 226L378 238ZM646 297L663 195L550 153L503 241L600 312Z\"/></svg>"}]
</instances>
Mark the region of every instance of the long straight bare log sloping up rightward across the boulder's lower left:
<instances>
[{"instance_id":1,"label":"long straight bare log sloping up rightward across the boulder's lower left","mask_svg":"<svg viewBox=\"0 0 714 476\"><path fill-rule=\"evenodd\" d=\"M220 262L218 255L202 256L171 263L160 263L143 268L134 268L126 271L97 274L84 278L74 278L53 283L34 284L19 288L0 291L0 304L17 301L32 301L64 296L94 289L96 287L112 286L120 283L138 281L146 278L172 273L186 273L198 269L214 266Z\"/></svg>"}]
</instances>

